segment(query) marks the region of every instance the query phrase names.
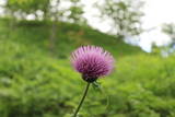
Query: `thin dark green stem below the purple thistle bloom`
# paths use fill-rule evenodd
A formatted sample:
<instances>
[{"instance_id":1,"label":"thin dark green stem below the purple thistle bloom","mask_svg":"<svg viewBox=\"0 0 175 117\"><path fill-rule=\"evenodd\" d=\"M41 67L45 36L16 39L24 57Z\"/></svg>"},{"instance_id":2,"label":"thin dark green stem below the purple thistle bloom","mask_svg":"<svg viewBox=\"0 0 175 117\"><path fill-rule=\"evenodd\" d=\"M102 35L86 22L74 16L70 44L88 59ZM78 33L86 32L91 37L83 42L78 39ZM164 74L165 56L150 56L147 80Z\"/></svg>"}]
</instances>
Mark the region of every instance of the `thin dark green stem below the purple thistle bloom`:
<instances>
[{"instance_id":1,"label":"thin dark green stem below the purple thistle bloom","mask_svg":"<svg viewBox=\"0 0 175 117\"><path fill-rule=\"evenodd\" d=\"M81 98L81 102L80 102L78 108L75 109L75 113L74 113L73 117L77 117L77 115L78 115L78 113L79 113L79 110L80 110L80 108L81 108L81 106L82 106L82 104L83 104L83 102L84 102L84 98L85 98L85 96L86 96L86 94L88 94L89 87L90 87L90 82L88 82L88 84L86 84L86 87L85 87L83 97Z\"/></svg>"}]
</instances>

